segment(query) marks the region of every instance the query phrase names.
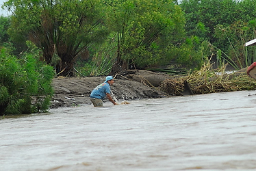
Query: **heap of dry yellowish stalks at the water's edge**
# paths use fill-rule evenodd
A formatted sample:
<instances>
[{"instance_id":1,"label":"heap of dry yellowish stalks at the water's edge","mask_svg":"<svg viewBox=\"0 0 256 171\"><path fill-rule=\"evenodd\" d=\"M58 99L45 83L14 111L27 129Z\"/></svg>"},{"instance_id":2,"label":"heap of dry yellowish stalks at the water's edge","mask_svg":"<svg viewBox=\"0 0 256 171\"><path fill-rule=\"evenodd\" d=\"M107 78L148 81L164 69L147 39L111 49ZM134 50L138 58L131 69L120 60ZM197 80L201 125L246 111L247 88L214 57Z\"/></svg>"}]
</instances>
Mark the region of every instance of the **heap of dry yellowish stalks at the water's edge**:
<instances>
[{"instance_id":1,"label":"heap of dry yellowish stalks at the water's edge","mask_svg":"<svg viewBox=\"0 0 256 171\"><path fill-rule=\"evenodd\" d=\"M185 84L188 83L192 94L207 94L212 92L232 92L240 90L256 90L256 80L244 73L228 75L226 66L212 70L212 64L205 64L201 70L196 70L188 76L177 79L166 79L160 86L161 90L172 95L183 95Z\"/></svg>"}]
</instances>

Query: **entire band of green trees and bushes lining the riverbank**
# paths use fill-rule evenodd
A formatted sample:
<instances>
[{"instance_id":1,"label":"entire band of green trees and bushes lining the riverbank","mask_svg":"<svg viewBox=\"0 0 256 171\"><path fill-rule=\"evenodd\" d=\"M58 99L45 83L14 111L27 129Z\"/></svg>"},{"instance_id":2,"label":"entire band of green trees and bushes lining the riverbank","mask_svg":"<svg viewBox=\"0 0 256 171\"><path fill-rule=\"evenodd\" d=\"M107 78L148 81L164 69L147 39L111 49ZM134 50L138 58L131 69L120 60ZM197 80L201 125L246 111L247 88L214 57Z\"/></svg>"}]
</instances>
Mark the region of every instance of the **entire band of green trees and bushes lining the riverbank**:
<instances>
[{"instance_id":1,"label":"entire band of green trees and bushes lining the riverbank","mask_svg":"<svg viewBox=\"0 0 256 171\"><path fill-rule=\"evenodd\" d=\"M192 78L208 60L210 68L235 70L256 61L256 47L244 47L255 38L256 0L9 0L3 7L12 12L0 16L4 114L47 109L50 66L55 76L140 68L172 74L190 70ZM218 86L223 83L229 81ZM218 92L224 86L212 88Z\"/></svg>"}]
</instances>

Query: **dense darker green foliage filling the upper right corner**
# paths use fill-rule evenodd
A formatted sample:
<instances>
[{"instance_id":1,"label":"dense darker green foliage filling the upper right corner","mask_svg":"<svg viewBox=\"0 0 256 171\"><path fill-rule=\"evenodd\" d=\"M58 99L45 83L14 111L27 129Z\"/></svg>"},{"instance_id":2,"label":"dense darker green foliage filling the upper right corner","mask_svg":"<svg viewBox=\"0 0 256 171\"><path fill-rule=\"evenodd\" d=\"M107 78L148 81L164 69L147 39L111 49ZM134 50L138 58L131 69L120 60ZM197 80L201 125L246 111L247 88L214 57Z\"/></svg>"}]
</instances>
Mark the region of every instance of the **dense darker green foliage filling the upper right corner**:
<instances>
[{"instance_id":1,"label":"dense darker green foliage filling the upper right corner","mask_svg":"<svg viewBox=\"0 0 256 171\"><path fill-rule=\"evenodd\" d=\"M255 48L244 47L255 38L255 0L183 0L180 6L188 36L206 40L220 67L225 62L240 69L255 62Z\"/></svg>"}]
</instances>

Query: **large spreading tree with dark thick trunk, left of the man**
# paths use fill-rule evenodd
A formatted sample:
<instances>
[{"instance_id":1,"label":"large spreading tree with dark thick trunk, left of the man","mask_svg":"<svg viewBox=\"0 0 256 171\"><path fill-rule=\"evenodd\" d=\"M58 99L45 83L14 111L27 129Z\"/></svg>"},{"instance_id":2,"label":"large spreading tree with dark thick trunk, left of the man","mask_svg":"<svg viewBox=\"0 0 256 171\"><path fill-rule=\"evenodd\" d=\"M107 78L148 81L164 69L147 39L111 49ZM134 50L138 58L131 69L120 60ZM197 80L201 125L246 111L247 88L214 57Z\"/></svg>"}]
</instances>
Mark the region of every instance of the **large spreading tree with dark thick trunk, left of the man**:
<instances>
[{"instance_id":1,"label":"large spreading tree with dark thick trunk, left of the man","mask_svg":"<svg viewBox=\"0 0 256 171\"><path fill-rule=\"evenodd\" d=\"M9 34L14 40L34 42L47 64L60 57L57 75L73 77L77 55L107 35L99 0L9 0L4 6L13 13Z\"/></svg>"}]
</instances>

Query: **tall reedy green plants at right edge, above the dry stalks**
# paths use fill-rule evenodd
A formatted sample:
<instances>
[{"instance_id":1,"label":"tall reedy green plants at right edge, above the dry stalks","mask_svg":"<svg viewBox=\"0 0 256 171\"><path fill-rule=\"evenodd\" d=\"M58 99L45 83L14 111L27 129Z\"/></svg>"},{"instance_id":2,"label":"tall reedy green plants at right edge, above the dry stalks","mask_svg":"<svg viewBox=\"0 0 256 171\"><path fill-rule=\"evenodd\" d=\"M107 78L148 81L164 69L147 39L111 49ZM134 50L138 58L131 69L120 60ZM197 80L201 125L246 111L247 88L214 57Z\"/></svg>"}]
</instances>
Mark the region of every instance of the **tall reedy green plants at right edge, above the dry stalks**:
<instances>
[{"instance_id":1,"label":"tall reedy green plants at right edge, above the dry stalks","mask_svg":"<svg viewBox=\"0 0 256 171\"><path fill-rule=\"evenodd\" d=\"M216 28L216 38L229 42L221 58L237 70L256 61L255 47L244 47L246 42L255 38L254 23L254 20L248 23L235 22L228 27L218 25Z\"/></svg>"}]
</instances>

